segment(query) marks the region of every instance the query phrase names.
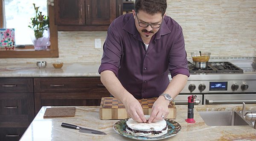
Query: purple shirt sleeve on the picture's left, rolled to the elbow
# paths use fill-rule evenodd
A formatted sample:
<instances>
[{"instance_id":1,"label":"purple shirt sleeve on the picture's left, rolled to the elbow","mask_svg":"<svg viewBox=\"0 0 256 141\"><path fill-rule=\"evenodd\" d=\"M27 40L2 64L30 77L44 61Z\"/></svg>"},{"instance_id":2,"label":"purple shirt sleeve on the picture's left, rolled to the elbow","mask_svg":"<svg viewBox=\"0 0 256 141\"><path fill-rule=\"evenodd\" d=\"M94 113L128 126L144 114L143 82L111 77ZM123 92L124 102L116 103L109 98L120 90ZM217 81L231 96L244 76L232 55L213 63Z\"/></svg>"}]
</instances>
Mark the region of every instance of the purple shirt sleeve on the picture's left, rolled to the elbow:
<instances>
[{"instance_id":1,"label":"purple shirt sleeve on the picture's left, rolled to the elbow","mask_svg":"<svg viewBox=\"0 0 256 141\"><path fill-rule=\"evenodd\" d=\"M99 73L105 70L113 71L117 76L120 68L120 59L122 55L122 48L120 37L113 24L108 28L108 34L103 45L103 55L101 65L99 66Z\"/></svg>"}]
</instances>

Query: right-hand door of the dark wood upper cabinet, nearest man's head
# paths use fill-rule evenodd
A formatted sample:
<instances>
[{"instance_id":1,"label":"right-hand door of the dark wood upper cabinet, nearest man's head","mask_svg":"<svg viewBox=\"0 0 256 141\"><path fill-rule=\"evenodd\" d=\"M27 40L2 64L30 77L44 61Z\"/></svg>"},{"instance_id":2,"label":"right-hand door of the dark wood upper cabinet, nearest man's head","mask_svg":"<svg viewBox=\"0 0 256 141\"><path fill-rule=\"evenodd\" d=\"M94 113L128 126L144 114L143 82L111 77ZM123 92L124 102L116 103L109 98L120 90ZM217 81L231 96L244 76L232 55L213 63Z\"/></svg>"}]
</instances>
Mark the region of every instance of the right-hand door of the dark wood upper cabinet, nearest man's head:
<instances>
[{"instance_id":1,"label":"right-hand door of the dark wood upper cabinet, nearest man's head","mask_svg":"<svg viewBox=\"0 0 256 141\"><path fill-rule=\"evenodd\" d=\"M85 13L86 25L110 25L117 15L116 0L85 0Z\"/></svg>"}]
</instances>

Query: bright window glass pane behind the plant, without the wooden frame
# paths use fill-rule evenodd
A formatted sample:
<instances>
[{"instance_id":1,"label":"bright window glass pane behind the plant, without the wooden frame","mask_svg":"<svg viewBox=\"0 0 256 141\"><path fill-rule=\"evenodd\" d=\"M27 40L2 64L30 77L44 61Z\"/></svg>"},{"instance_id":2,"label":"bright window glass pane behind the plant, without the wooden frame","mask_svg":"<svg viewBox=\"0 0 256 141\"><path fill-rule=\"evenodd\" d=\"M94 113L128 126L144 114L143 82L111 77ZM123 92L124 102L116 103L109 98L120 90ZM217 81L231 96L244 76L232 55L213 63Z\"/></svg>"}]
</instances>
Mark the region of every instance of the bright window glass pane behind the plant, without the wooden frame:
<instances>
[{"instance_id":1,"label":"bright window glass pane behind the plant, without the wooden frame","mask_svg":"<svg viewBox=\"0 0 256 141\"><path fill-rule=\"evenodd\" d=\"M3 0L3 27L15 28L16 45L33 45L30 36L34 33L28 27L30 18L35 17L32 3L39 7L43 15L47 15L47 0Z\"/></svg>"}]
</instances>

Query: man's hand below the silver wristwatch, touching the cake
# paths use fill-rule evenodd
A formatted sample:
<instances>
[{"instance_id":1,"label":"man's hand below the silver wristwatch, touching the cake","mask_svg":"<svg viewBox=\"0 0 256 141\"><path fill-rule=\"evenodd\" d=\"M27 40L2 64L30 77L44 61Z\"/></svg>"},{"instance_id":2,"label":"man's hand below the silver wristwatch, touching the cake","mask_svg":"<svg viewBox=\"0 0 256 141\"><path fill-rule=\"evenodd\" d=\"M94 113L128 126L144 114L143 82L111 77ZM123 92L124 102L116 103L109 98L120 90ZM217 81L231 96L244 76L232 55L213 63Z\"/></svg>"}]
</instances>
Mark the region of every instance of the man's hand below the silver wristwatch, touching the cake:
<instances>
[{"instance_id":1,"label":"man's hand below the silver wristwatch, touching the cake","mask_svg":"<svg viewBox=\"0 0 256 141\"><path fill-rule=\"evenodd\" d=\"M169 101L166 100L163 96L159 96L153 104L152 113L150 118L148 119L148 123L156 122L162 120L163 118L166 118L169 114L168 105Z\"/></svg>"}]
</instances>

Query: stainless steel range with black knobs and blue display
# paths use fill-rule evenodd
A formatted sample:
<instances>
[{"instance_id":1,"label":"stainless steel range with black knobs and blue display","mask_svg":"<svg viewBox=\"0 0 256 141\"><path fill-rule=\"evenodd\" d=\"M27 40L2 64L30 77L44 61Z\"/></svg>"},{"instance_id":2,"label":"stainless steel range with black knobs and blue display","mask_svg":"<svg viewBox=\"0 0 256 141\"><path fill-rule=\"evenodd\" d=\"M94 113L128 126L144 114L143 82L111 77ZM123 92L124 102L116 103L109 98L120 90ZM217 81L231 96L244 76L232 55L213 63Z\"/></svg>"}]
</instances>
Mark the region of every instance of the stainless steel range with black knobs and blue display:
<instances>
[{"instance_id":1,"label":"stainless steel range with black knobs and blue display","mask_svg":"<svg viewBox=\"0 0 256 141\"><path fill-rule=\"evenodd\" d=\"M189 63L190 77L175 104L187 104L190 95L197 96L195 104L256 103L256 71L251 60L208 62L205 69L196 69Z\"/></svg>"}]
</instances>

